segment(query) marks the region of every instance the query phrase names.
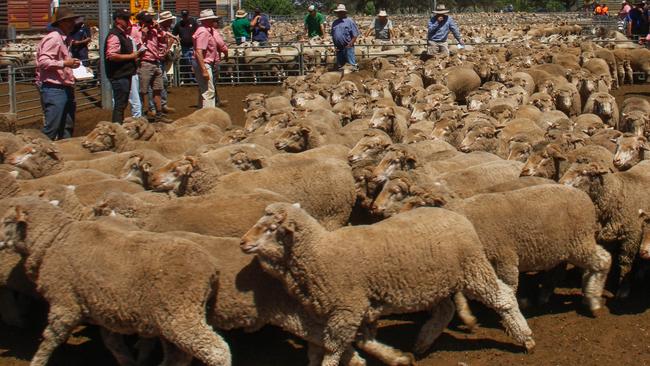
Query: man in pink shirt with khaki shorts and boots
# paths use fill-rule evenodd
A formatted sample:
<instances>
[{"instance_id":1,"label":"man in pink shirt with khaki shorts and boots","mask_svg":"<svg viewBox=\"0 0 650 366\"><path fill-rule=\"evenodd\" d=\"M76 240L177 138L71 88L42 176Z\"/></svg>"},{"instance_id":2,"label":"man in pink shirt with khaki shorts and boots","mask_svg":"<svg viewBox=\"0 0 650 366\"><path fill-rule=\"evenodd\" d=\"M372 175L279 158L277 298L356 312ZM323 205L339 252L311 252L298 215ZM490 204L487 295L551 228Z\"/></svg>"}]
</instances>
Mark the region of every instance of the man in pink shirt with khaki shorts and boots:
<instances>
[{"instance_id":1,"label":"man in pink shirt with khaki shorts and boots","mask_svg":"<svg viewBox=\"0 0 650 366\"><path fill-rule=\"evenodd\" d=\"M163 115L160 94L163 90L162 70L160 68L160 47L167 41L165 34L160 30L153 16L147 14L142 17L140 25L142 37L142 57L138 67L140 78L140 101L143 108L147 106L146 96L149 87L153 90L153 102L156 107L156 116L151 122L172 122ZM143 113L144 114L144 113Z\"/></svg>"}]
</instances>

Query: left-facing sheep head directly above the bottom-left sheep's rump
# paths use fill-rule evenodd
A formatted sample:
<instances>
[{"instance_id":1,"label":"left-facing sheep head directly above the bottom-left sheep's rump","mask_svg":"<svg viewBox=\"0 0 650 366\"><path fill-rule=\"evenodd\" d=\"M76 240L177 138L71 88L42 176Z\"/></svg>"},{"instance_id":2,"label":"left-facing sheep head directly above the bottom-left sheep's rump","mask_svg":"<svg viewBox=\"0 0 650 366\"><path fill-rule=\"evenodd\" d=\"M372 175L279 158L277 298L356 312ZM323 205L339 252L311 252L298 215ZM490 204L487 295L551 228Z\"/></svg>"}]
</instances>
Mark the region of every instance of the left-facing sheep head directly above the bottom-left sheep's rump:
<instances>
[{"instance_id":1,"label":"left-facing sheep head directly above the bottom-left sheep's rump","mask_svg":"<svg viewBox=\"0 0 650 366\"><path fill-rule=\"evenodd\" d=\"M199 162L193 156L171 161L151 174L154 191L182 193L189 177L199 170Z\"/></svg>"}]
</instances>

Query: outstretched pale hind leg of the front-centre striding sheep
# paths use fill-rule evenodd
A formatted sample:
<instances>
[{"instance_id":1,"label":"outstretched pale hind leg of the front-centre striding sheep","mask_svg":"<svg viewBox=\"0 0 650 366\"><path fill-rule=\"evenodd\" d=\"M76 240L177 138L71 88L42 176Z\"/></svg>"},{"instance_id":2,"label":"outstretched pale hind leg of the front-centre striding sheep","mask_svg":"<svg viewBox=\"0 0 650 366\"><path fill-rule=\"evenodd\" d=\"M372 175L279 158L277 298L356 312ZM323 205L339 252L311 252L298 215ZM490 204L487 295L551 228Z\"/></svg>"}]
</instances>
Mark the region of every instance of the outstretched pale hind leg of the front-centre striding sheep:
<instances>
[{"instance_id":1,"label":"outstretched pale hind leg of the front-centre striding sheep","mask_svg":"<svg viewBox=\"0 0 650 366\"><path fill-rule=\"evenodd\" d=\"M463 292L494 309L501 316L506 333L527 351L532 351L535 347L533 332L519 310L515 291L496 277L489 264L474 266L466 272L467 287Z\"/></svg>"}]
</instances>

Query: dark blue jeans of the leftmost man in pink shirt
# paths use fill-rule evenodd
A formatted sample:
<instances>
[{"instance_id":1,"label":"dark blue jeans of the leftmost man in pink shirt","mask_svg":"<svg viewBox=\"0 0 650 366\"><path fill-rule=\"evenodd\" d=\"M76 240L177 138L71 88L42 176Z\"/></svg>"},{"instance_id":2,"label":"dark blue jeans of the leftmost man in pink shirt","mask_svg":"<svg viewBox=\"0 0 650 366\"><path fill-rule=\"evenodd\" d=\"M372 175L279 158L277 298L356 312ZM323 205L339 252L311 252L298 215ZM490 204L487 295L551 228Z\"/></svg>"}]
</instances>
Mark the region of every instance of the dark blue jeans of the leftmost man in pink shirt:
<instances>
[{"instance_id":1,"label":"dark blue jeans of the leftmost man in pink shirt","mask_svg":"<svg viewBox=\"0 0 650 366\"><path fill-rule=\"evenodd\" d=\"M52 140L72 137L77 103L73 87L43 84L40 88L43 107L43 133Z\"/></svg>"}]
</instances>

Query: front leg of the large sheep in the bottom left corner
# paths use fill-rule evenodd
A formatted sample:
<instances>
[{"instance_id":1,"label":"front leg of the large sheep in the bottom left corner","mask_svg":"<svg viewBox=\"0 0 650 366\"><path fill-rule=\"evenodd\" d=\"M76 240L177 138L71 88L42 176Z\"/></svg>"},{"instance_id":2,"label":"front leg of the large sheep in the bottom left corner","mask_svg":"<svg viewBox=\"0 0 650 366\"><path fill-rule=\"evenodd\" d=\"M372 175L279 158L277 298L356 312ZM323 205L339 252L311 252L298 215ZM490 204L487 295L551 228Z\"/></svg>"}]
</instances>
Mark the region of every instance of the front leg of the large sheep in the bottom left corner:
<instances>
[{"instance_id":1,"label":"front leg of the large sheep in the bottom left corner","mask_svg":"<svg viewBox=\"0 0 650 366\"><path fill-rule=\"evenodd\" d=\"M43 341L32 358L30 366L46 366L52 352L63 344L72 330L81 322L81 313L50 302L48 324L43 331Z\"/></svg>"}]
</instances>

